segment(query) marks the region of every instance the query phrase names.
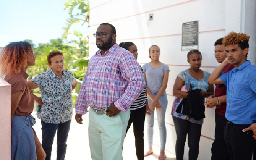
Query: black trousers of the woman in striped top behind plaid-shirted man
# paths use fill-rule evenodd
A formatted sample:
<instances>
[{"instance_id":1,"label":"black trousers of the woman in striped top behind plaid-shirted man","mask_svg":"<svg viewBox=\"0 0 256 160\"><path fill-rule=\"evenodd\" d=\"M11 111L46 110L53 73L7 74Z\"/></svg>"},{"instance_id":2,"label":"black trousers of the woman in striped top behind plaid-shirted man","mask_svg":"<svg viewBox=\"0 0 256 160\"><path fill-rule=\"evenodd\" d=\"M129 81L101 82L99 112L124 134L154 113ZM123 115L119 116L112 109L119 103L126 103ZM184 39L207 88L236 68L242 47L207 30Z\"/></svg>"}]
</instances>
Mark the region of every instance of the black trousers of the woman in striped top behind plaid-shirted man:
<instances>
[{"instance_id":1,"label":"black trousers of the woman in striped top behind plaid-shirted man","mask_svg":"<svg viewBox=\"0 0 256 160\"><path fill-rule=\"evenodd\" d=\"M130 128L131 123L133 123L136 155L138 160L144 160L144 124L145 124L146 106L136 110L130 110L130 111L131 111L131 114L130 114L130 119L128 121L126 133Z\"/></svg>"}]
</instances>

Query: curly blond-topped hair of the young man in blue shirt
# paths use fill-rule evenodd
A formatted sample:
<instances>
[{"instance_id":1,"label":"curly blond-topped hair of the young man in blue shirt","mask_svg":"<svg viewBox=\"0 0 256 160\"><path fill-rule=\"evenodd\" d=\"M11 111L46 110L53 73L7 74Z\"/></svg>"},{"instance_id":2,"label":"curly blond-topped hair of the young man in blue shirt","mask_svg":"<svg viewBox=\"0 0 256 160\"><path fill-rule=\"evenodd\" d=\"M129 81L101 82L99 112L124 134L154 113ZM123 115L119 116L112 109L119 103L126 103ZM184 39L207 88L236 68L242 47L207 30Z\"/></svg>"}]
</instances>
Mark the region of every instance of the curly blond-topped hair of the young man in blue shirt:
<instances>
[{"instance_id":1,"label":"curly blond-topped hair of the young man in blue shirt","mask_svg":"<svg viewBox=\"0 0 256 160\"><path fill-rule=\"evenodd\" d=\"M230 32L224 37L222 44L225 46L238 44L244 50L245 48L249 48L249 39L250 36L245 33Z\"/></svg>"}]
</instances>

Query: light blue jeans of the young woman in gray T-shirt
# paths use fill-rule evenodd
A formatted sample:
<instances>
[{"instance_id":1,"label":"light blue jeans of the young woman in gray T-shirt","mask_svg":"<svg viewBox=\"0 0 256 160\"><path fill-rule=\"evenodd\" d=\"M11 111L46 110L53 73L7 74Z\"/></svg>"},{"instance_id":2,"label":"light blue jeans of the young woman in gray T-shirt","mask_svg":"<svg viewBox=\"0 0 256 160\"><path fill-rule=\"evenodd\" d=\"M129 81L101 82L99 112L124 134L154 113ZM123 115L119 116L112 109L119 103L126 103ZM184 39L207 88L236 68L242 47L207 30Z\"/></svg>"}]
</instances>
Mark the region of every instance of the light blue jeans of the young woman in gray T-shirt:
<instances>
[{"instance_id":1,"label":"light blue jeans of the young woman in gray T-shirt","mask_svg":"<svg viewBox=\"0 0 256 160\"><path fill-rule=\"evenodd\" d=\"M154 96L157 95L156 93L152 93ZM151 105L152 100L147 97L149 107ZM158 128L160 132L160 150L164 151L165 150L165 143L166 143L166 127L165 127L165 112L167 108L167 95L166 92L162 94L162 96L159 98L159 103L162 106L162 110L156 110L157 114L157 123L158 123ZM148 144L149 148L153 147L153 126L154 126L154 112L155 110L151 110L151 115L146 115L146 120L147 120L147 139L148 139Z\"/></svg>"}]
</instances>

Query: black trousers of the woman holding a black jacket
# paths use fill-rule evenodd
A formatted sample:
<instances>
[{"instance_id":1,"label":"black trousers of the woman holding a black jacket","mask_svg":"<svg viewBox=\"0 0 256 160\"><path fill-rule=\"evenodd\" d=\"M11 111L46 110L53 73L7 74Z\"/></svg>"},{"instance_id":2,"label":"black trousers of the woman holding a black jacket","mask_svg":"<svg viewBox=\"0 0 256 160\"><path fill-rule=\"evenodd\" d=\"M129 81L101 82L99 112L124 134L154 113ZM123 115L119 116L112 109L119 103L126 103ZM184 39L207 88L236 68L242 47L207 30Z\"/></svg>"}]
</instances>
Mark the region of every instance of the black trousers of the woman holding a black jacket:
<instances>
[{"instance_id":1,"label":"black trousers of the woman holding a black jacket","mask_svg":"<svg viewBox=\"0 0 256 160\"><path fill-rule=\"evenodd\" d=\"M177 135L175 152L176 160L183 160L184 146L188 134L188 159L196 160L199 154L199 141L201 137L202 124L191 123L172 116Z\"/></svg>"}]
</instances>

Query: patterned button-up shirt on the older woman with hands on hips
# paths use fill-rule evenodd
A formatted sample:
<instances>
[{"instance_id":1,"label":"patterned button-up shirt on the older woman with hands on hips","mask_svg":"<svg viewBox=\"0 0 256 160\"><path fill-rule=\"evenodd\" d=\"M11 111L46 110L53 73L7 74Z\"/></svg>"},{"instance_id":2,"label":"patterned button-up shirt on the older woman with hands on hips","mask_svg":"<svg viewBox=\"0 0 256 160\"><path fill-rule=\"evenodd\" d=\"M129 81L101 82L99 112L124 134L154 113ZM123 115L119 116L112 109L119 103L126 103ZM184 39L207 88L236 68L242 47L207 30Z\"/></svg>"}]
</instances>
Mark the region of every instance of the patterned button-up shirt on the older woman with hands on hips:
<instances>
[{"instance_id":1,"label":"patterned button-up shirt on the older woman with hands on hips","mask_svg":"<svg viewBox=\"0 0 256 160\"><path fill-rule=\"evenodd\" d=\"M72 72L63 70L59 78L52 69L38 74L32 79L41 92L43 105L36 115L45 123L65 123L72 118L72 84L75 77Z\"/></svg>"}]
</instances>

